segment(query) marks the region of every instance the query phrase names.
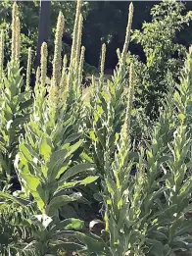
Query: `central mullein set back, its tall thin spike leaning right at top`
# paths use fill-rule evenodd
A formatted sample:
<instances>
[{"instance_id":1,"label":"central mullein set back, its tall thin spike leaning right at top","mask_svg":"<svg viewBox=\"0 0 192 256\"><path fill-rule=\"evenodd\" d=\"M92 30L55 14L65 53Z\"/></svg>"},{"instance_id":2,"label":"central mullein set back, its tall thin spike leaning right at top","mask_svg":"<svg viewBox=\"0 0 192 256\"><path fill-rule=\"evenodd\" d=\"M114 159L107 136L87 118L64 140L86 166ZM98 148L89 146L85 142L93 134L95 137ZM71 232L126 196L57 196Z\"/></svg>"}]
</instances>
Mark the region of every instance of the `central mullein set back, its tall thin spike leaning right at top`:
<instances>
[{"instance_id":1,"label":"central mullein set back, its tall thin spike leaning right at top","mask_svg":"<svg viewBox=\"0 0 192 256\"><path fill-rule=\"evenodd\" d=\"M130 29L133 18L133 5L129 5L128 22L125 33L125 40L122 52L120 53L120 62L114 72L112 81L108 80L104 86L104 69L106 45L103 44L101 51L101 70L100 80L95 82L93 78L92 95L90 106L87 107L86 119L86 151L92 157L97 165L98 172L104 175L105 152L111 151L111 157L114 158L116 149L116 133L120 132L123 124L124 112L126 109L126 96L124 95L126 80L126 54L130 39Z\"/></svg>"}]
</instances>

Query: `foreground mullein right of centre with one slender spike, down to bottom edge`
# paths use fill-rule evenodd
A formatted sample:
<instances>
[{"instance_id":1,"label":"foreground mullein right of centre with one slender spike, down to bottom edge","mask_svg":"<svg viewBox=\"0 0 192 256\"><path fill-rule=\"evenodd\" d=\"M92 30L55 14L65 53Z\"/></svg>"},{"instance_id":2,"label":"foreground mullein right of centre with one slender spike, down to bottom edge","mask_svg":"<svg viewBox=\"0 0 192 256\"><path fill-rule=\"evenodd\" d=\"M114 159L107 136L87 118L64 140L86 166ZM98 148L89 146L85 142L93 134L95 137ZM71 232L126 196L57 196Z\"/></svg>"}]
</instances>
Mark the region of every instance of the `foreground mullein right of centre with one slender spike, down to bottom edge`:
<instances>
[{"instance_id":1,"label":"foreground mullein right of centre with one slender spike, down to bottom edge","mask_svg":"<svg viewBox=\"0 0 192 256\"><path fill-rule=\"evenodd\" d=\"M130 145L130 119L133 102L133 93L135 86L133 65L129 71L129 91L127 106L125 112L124 124L121 127L120 134L117 136L117 149L115 159L112 160L110 154L106 152L105 175L102 181L103 198L105 203L104 220L106 228L104 233L109 235L109 246L112 255L144 255L141 247L144 243L146 226L135 221L136 216L131 208L142 204L144 174L142 161L138 164L138 175L134 179L130 175L133 161L129 158ZM134 185L133 185L134 183ZM131 195L131 204L129 199ZM139 212L137 213L139 214ZM132 217L132 220L128 220ZM141 220L140 220L141 221ZM137 230L137 231L135 231ZM134 241L133 241L134 237Z\"/></svg>"}]
</instances>

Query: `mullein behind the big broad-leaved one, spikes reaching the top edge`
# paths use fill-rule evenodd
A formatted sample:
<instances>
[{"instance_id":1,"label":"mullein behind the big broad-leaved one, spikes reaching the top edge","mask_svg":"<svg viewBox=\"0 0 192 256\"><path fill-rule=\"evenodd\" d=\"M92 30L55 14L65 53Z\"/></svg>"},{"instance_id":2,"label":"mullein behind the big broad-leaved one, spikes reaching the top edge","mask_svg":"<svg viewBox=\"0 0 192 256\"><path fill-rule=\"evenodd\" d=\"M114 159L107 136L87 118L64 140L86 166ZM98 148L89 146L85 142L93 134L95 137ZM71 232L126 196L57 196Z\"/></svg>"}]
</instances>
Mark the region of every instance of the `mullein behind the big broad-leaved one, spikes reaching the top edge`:
<instances>
[{"instance_id":1,"label":"mullein behind the big broad-leaved one, spikes reaching the top edge","mask_svg":"<svg viewBox=\"0 0 192 256\"><path fill-rule=\"evenodd\" d=\"M66 106L66 116L75 117L72 123L72 130L77 132L82 124L82 71L84 64L84 46L81 46L82 15L81 1L76 1L76 15L72 33L71 59L67 55L63 58L63 67L59 81L58 96ZM60 56L61 58L61 56ZM60 62L61 63L61 62ZM81 149L82 151L82 149Z\"/></svg>"}]
</instances>

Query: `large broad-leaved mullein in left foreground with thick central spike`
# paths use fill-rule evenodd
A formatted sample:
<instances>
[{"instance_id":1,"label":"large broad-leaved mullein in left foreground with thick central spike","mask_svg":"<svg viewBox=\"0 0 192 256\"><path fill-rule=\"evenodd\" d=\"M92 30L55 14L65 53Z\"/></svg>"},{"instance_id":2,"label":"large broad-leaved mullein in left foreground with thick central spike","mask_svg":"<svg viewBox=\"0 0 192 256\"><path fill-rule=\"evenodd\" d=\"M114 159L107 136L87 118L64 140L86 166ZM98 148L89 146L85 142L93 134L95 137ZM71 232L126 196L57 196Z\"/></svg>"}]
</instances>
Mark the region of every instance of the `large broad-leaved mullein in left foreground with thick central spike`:
<instances>
[{"instance_id":1,"label":"large broad-leaved mullein in left foreground with thick central spike","mask_svg":"<svg viewBox=\"0 0 192 256\"><path fill-rule=\"evenodd\" d=\"M4 199L31 208L31 215L25 225L35 225L33 236L28 244L20 244L18 250L25 253L30 249L35 250L36 255L57 253L59 249L68 251L84 248L83 245L69 242L65 236L61 236L62 230L80 229L83 222L72 218L60 221L59 211L62 206L65 210L74 201L86 202L77 186L84 186L98 179L94 164L82 161L79 154L76 154L83 140L80 138L81 133L77 132L78 128L74 127L78 113L75 116L72 106L69 106L72 103L71 84L62 83L68 82L71 76L64 71L67 69L66 57L63 71L61 68L63 29L64 16L60 13L56 27L53 76L47 88L48 95L45 86L47 44L43 43L41 46L41 65L36 74L34 103L29 122L24 125L25 132L20 138L19 153L15 160L22 190L14 196L0 194ZM28 59L30 60L30 55ZM80 76L82 60L81 54L76 77ZM62 89L65 89L66 94Z\"/></svg>"}]
</instances>

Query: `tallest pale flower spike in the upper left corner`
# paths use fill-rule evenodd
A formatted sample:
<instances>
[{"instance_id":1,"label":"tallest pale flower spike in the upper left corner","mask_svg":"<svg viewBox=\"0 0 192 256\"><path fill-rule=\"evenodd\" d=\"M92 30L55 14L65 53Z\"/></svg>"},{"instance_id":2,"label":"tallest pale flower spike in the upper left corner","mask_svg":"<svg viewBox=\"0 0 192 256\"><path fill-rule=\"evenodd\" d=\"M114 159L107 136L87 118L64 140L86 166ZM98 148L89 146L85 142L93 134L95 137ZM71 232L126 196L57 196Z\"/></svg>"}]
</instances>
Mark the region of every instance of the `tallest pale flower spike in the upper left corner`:
<instances>
[{"instance_id":1,"label":"tallest pale flower spike in the upper left corner","mask_svg":"<svg viewBox=\"0 0 192 256\"><path fill-rule=\"evenodd\" d=\"M18 18L18 5L15 2L12 10L12 61L13 62L16 62L17 18Z\"/></svg>"}]
</instances>

